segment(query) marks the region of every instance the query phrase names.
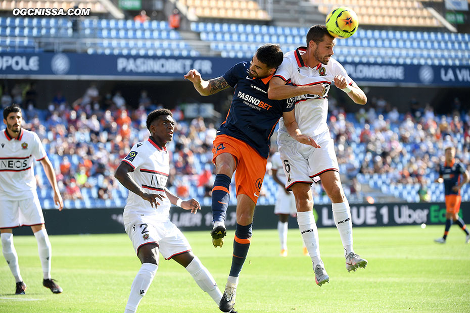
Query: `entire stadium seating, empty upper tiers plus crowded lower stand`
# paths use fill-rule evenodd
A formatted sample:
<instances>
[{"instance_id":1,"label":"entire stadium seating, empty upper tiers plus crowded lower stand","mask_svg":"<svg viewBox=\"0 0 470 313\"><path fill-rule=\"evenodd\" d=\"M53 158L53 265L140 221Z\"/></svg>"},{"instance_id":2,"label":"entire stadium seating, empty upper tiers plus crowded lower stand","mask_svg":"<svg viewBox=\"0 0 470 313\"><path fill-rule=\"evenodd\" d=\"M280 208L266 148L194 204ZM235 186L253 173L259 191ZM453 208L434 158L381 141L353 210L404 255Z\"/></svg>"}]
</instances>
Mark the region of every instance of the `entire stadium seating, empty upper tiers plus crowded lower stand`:
<instances>
[{"instance_id":1,"label":"entire stadium seating, empty upper tiers plus crowded lower stand","mask_svg":"<svg viewBox=\"0 0 470 313\"><path fill-rule=\"evenodd\" d=\"M441 1L435 1L441 2ZM470 65L470 35L450 32L414 0L332 0L274 1L272 7L245 0L177 0L199 18L185 31L174 30L167 21L144 23L112 18L96 0L80 1L95 16L81 17L74 28L70 18L12 17L13 8L70 8L77 1L0 2L0 53L41 53L74 51L104 55L191 56L204 55L197 46L206 46L205 55L251 58L266 42L281 44L283 50L305 45L307 27L322 23L338 5L353 8L360 29L349 39L338 39L335 52L340 62L374 64ZM266 2L268 3L268 2ZM6 13L9 16L6 16ZM307 22L306 22L307 21ZM197 39L186 40L191 33ZM20 92L19 94L21 94ZM5 94L4 94L5 96ZM21 97L21 96L20 96ZM8 99L2 105L11 103ZM20 99L21 102L21 99ZM421 116L383 110L371 99L367 112L357 115L332 109L328 122L336 143L340 171L346 176L345 193L351 203L364 202L364 193L354 186L357 180L368 186L368 195L388 195L398 201L416 202L421 184L429 187L431 201L443 201L443 186L433 183L443 148L452 142L460 160L469 165L470 114L453 112L437 117L431 108ZM58 170L66 207L123 206L127 190L117 183L113 171L136 141L145 140L148 131L142 122L156 106L144 105L126 110L111 103L91 109L90 103L56 105L51 111L28 108L23 101L28 125L44 142L54 168ZM108 108L109 107L109 108ZM107 108L107 109L104 109ZM376 110L374 110L377 109ZM177 113L176 110L175 113ZM121 118L122 112L132 121ZM385 113L387 112L387 113ZM398 115L398 117L397 117ZM211 143L215 134L207 121L184 120L175 114L178 129L170 144L174 166L169 184L179 194L191 194L210 205L213 166ZM381 118L382 116L382 118ZM119 120L120 119L120 120ZM119 120L119 121L118 121ZM90 158L90 155L93 158ZM92 160L91 160L92 159ZM35 165L39 198L44 208L54 206L48 181ZM392 182L392 183L391 183ZM234 186L231 186L234 190ZM314 202L330 200L314 185ZM265 177L259 204L274 204L277 185ZM463 201L470 200L470 187L462 189ZM232 197L231 203L236 203Z\"/></svg>"}]
</instances>

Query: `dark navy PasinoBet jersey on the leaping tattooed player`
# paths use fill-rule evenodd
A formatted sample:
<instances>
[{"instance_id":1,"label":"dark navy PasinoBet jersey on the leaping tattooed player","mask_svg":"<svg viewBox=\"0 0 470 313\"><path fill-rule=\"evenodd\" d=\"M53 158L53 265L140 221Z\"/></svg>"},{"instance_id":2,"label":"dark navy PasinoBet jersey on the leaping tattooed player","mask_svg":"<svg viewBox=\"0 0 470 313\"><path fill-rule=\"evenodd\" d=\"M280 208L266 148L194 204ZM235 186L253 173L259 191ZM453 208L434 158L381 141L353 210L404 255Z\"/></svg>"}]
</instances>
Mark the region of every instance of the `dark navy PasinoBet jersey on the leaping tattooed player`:
<instances>
[{"instance_id":1,"label":"dark navy PasinoBet jersey on the leaping tattooed player","mask_svg":"<svg viewBox=\"0 0 470 313\"><path fill-rule=\"evenodd\" d=\"M245 141L263 158L267 158L270 138L283 112L294 106L287 100L268 98L271 77L264 79L248 76L250 62L240 62L230 68L223 78L235 88L227 118L217 135L227 135Z\"/></svg>"}]
</instances>

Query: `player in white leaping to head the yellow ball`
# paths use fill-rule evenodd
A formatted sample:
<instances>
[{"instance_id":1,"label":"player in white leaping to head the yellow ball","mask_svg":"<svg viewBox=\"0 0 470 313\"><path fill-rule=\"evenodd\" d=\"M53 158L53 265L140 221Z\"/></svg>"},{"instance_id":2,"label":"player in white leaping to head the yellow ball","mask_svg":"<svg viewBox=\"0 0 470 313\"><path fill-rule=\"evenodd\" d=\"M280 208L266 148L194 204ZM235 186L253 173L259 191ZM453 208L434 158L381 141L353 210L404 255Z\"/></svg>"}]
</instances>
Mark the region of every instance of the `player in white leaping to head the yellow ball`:
<instances>
[{"instance_id":1,"label":"player in white leaping to head the yellow ball","mask_svg":"<svg viewBox=\"0 0 470 313\"><path fill-rule=\"evenodd\" d=\"M355 103L365 105L367 97L343 66L332 58L335 38L324 25L312 26L306 43L306 47L299 47L284 56L283 63L271 79L268 96L270 99L294 97L295 110L290 114L295 115L300 131L321 146L298 144L286 131L284 123L279 123L277 143L287 177L286 189L294 192L297 222L312 258L315 281L321 286L330 277L320 258L318 231L312 214L312 182L321 180L332 200L333 217L344 247L346 269L348 272L355 271L367 265L367 260L353 250L351 212L340 181L334 142L326 124L327 94L332 82Z\"/></svg>"}]
</instances>

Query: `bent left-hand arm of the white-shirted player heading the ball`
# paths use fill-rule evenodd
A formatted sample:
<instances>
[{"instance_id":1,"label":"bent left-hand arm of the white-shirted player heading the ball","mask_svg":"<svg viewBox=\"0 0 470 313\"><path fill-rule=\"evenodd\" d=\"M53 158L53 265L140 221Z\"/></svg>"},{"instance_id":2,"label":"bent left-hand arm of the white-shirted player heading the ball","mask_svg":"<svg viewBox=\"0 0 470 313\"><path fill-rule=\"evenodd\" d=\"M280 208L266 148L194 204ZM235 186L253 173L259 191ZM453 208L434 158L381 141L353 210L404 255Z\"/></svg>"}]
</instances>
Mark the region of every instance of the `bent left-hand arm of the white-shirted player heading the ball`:
<instances>
[{"instance_id":1,"label":"bent left-hand arm of the white-shirted player heading the ball","mask_svg":"<svg viewBox=\"0 0 470 313\"><path fill-rule=\"evenodd\" d=\"M316 84L312 86L291 86L286 85L286 81L279 77L273 77L269 81L268 98L272 100L282 100L303 94L325 94L325 86Z\"/></svg>"}]
</instances>

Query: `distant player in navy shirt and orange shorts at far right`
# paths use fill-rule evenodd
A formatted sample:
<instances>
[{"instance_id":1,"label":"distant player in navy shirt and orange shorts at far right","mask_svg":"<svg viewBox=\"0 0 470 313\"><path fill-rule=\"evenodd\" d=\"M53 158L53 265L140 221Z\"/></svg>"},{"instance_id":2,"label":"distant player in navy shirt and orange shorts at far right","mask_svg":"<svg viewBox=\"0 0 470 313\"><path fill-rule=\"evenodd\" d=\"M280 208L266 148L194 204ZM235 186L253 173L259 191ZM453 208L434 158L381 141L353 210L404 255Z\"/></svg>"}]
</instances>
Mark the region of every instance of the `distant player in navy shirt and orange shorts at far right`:
<instances>
[{"instance_id":1,"label":"distant player in navy shirt and orange shorts at far right","mask_svg":"<svg viewBox=\"0 0 470 313\"><path fill-rule=\"evenodd\" d=\"M470 181L468 171L462 163L455 160L455 147L450 146L445 149L445 162L444 165L439 166L439 178L436 179L436 183L444 183L444 194L446 200L446 226L444 230L444 236L435 239L435 242L446 243L447 234L455 222L466 234L465 243L470 242L470 232L463 222L462 218L458 216L460 211L460 202L462 202L462 196L460 195L460 189L462 186Z\"/></svg>"}]
</instances>

